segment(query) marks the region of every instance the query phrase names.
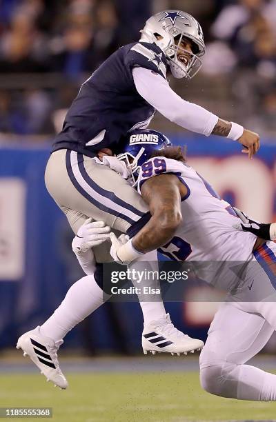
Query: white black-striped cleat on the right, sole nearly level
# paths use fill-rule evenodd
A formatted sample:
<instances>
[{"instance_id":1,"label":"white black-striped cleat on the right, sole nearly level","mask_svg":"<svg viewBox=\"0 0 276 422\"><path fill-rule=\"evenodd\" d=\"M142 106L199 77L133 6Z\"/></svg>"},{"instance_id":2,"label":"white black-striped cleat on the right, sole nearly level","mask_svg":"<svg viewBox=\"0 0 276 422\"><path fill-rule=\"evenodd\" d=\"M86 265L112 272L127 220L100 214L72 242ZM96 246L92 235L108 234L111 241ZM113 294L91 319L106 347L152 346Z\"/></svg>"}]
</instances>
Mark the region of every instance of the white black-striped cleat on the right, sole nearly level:
<instances>
[{"instance_id":1,"label":"white black-striped cleat on the right, sole nearly level","mask_svg":"<svg viewBox=\"0 0 276 422\"><path fill-rule=\"evenodd\" d=\"M177 330L170 321L170 315L166 314L157 321L151 321L144 325L142 334L142 347L144 354L151 352L165 352L171 354L193 353L195 350L201 350L204 342L198 339L192 339L187 334Z\"/></svg>"}]
</instances>

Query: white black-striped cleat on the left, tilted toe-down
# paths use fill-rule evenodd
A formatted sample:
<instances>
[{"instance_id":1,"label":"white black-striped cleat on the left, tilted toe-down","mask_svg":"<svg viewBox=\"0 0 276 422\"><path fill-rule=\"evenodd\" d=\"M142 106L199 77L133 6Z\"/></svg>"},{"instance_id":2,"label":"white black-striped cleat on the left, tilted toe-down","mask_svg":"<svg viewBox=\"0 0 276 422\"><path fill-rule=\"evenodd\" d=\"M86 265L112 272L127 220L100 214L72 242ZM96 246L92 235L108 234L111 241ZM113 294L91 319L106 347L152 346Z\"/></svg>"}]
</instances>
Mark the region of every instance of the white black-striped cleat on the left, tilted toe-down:
<instances>
[{"instance_id":1,"label":"white black-striped cleat on the left, tilted toe-down","mask_svg":"<svg viewBox=\"0 0 276 422\"><path fill-rule=\"evenodd\" d=\"M29 356L37 365L41 374L47 381L52 381L55 386L65 390L68 387L66 377L59 368L57 351L63 340L54 341L40 334L40 327L22 334L17 340L17 349L23 350L23 356Z\"/></svg>"}]
</instances>

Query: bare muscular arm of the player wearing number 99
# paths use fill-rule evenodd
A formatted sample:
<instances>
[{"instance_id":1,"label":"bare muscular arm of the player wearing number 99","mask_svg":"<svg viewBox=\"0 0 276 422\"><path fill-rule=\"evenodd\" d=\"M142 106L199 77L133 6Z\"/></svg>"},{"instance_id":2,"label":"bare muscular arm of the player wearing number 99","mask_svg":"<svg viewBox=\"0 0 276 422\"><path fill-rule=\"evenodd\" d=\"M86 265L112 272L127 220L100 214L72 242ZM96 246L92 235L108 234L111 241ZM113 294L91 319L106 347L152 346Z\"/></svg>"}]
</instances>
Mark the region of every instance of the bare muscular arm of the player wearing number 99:
<instances>
[{"instance_id":1,"label":"bare muscular arm of the player wearing number 99","mask_svg":"<svg viewBox=\"0 0 276 422\"><path fill-rule=\"evenodd\" d=\"M160 174L144 182L141 196L152 217L132 239L136 250L149 252L172 239L182 221L181 197L186 193L186 186L173 174Z\"/></svg>"}]
</instances>

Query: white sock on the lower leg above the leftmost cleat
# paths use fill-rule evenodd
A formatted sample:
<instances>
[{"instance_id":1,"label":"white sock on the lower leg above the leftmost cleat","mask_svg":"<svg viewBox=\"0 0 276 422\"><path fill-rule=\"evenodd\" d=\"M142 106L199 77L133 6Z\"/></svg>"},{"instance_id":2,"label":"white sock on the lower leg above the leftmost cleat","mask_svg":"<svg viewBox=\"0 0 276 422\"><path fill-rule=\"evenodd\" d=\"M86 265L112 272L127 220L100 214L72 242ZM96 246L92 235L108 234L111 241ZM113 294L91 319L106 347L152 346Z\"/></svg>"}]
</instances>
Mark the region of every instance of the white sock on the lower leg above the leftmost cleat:
<instances>
[{"instance_id":1,"label":"white sock on the lower leg above the leftmost cleat","mask_svg":"<svg viewBox=\"0 0 276 422\"><path fill-rule=\"evenodd\" d=\"M41 325L41 334L55 341L63 339L75 325L99 308L108 298L97 285L94 276L83 277L70 287L59 308Z\"/></svg>"}]
</instances>

